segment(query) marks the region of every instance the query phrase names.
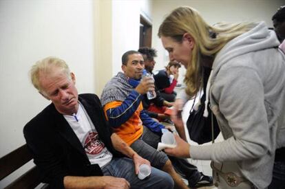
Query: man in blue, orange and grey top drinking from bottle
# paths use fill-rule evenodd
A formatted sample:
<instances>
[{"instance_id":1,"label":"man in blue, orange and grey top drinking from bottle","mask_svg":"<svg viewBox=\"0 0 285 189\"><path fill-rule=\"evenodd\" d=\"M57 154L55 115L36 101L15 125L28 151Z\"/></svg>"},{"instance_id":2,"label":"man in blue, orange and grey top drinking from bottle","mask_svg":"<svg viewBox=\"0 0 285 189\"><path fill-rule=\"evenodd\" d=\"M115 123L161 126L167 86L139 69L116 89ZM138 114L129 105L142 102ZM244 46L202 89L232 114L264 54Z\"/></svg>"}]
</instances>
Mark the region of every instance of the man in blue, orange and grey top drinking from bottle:
<instances>
[{"instance_id":1,"label":"man in blue, orange and grey top drinking from bottle","mask_svg":"<svg viewBox=\"0 0 285 189\"><path fill-rule=\"evenodd\" d=\"M165 126L150 118L142 107L145 93L154 89L151 78L141 80L145 69L142 54L132 50L125 52L122 69L123 73L118 72L107 82L101 96L105 115L114 132L140 156L148 159L152 166L169 173L176 188L187 188L180 175L188 180L191 187L212 184L212 178L200 173L187 159L167 157L162 151L156 151Z\"/></svg>"}]
</instances>

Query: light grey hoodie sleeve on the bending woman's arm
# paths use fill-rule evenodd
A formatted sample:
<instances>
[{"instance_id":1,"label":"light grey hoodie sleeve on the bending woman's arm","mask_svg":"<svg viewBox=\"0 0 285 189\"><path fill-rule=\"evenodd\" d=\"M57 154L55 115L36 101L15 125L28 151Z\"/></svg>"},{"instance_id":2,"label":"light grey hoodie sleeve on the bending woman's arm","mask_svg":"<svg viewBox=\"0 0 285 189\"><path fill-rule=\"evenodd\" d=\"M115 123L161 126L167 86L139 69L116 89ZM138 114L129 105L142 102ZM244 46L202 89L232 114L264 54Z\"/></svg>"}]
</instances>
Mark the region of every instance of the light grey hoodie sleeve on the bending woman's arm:
<instances>
[{"instance_id":1,"label":"light grey hoodie sleeve on the bending woman's arm","mask_svg":"<svg viewBox=\"0 0 285 189\"><path fill-rule=\"evenodd\" d=\"M218 116L226 120L221 130L230 129L232 136L228 134L223 142L209 146L191 146L191 157L229 162L260 158L268 153L271 139L259 74L250 67L220 69L212 94L219 105Z\"/></svg>"}]
</instances>

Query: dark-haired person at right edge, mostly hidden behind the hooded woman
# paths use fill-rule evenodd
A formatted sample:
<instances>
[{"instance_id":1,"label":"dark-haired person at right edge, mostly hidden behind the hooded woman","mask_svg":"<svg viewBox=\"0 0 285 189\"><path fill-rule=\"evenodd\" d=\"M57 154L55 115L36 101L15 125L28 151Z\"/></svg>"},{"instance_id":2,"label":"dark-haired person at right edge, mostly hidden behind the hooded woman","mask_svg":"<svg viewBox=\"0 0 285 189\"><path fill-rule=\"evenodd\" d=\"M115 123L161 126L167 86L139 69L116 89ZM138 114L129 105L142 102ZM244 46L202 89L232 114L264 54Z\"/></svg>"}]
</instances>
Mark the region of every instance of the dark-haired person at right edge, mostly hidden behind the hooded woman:
<instances>
[{"instance_id":1,"label":"dark-haired person at right edge, mostly hidden behind the hooded woman","mask_svg":"<svg viewBox=\"0 0 285 189\"><path fill-rule=\"evenodd\" d=\"M281 43L279 48L285 53L285 6L280 7L272 17L273 26ZM283 43L282 43L283 41ZM275 151L273 179L268 189L285 188L285 148Z\"/></svg>"}]
</instances>

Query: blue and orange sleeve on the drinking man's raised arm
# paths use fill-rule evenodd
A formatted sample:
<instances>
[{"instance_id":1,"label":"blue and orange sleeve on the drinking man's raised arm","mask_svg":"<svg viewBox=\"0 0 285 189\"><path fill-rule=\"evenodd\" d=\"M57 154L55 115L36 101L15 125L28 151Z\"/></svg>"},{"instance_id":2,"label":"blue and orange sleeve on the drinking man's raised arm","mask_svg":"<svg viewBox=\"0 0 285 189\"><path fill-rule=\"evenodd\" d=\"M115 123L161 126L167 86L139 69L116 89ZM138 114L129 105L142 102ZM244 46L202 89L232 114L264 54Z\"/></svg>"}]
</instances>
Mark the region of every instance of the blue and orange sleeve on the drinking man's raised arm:
<instances>
[{"instance_id":1,"label":"blue and orange sleeve on the drinking man's raised arm","mask_svg":"<svg viewBox=\"0 0 285 189\"><path fill-rule=\"evenodd\" d=\"M138 109L141 100L142 95L133 90L123 102L114 101L105 104L104 111L109 120L109 124L117 128L127 122L136 109Z\"/></svg>"}]
</instances>

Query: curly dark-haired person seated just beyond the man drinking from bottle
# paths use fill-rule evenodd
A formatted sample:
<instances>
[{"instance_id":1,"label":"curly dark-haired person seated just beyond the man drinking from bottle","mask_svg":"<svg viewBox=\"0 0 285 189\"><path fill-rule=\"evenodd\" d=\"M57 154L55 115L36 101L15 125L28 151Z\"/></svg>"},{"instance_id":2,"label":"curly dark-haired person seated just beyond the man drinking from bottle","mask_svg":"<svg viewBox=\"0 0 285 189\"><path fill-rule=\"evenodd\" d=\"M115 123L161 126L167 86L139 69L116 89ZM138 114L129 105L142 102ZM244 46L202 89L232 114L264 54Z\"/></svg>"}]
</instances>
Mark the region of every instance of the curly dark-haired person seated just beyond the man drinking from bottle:
<instances>
[{"instance_id":1,"label":"curly dark-haired person seated just beyond the man drinking from bottle","mask_svg":"<svg viewBox=\"0 0 285 189\"><path fill-rule=\"evenodd\" d=\"M156 65L156 61L154 58L156 57L156 49L150 47L140 47L138 52L142 54L142 57L145 61L145 70L151 76L153 76L152 71L154 70L154 65ZM155 88L156 98L149 100L147 98L147 94L145 94L145 98L142 99L142 106L145 110L147 110L147 114L151 118L155 118L160 122L171 122L169 119L169 115L165 113L167 107L172 107L172 103L168 102L162 96L160 96L160 92ZM172 123L172 122L171 122Z\"/></svg>"}]
</instances>

